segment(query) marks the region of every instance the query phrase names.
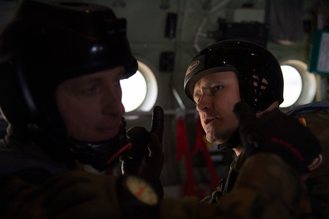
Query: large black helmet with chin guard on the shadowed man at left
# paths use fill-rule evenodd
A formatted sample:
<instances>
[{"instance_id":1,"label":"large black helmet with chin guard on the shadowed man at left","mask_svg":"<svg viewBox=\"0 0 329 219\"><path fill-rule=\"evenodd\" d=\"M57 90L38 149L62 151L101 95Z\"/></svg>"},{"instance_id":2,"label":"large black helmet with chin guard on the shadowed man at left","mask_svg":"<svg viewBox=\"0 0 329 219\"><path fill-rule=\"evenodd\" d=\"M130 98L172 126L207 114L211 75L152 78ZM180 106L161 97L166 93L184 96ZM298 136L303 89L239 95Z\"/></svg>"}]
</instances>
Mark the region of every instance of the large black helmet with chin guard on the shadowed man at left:
<instances>
[{"instance_id":1,"label":"large black helmet with chin guard on the shadowed man at left","mask_svg":"<svg viewBox=\"0 0 329 219\"><path fill-rule=\"evenodd\" d=\"M138 68L126 39L126 20L117 19L110 8L23 1L0 36L2 114L14 126L37 127L81 162L106 169L112 162L105 162L124 143L124 121L118 136L105 142L63 140L66 129L54 94L65 80L121 65L124 78Z\"/></svg>"}]
</instances>

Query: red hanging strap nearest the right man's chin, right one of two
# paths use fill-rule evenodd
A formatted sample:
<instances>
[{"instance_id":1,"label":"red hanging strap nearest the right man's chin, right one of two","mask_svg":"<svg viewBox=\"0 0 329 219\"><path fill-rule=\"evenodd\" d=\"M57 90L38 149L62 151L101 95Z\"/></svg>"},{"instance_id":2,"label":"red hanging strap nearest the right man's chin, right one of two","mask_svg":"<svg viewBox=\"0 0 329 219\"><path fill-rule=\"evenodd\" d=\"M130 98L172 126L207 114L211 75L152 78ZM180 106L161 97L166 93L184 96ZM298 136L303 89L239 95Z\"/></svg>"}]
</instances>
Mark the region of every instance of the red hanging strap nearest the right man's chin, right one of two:
<instances>
[{"instance_id":1,"label":"red hanging strap nearest the right man's chin, right one of two","mask_svg":"<svg viewBox=\"0 0 329 219\"><path fill-rule=\"evenodd\" d=\"M196 120L196 129L197 129L197 134L196 134L196 141L195 141L195 147L193 150L193 154L197 153L200 150L200 148L202 148L202 152L204 154L204 157L205 157L205 160L206 160L206 163L207 163L210 175L211 175L211 181L209 182L209 186L215 187L218 184L218 182L221 181L221 179L217 178L214 163L211 160L207 145L203 139L203 136L202 136L203 127L201 124L200 117L198 117Z\"/></svg>"}]
</instances>

